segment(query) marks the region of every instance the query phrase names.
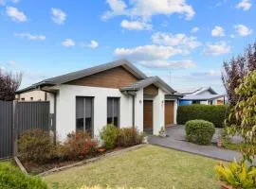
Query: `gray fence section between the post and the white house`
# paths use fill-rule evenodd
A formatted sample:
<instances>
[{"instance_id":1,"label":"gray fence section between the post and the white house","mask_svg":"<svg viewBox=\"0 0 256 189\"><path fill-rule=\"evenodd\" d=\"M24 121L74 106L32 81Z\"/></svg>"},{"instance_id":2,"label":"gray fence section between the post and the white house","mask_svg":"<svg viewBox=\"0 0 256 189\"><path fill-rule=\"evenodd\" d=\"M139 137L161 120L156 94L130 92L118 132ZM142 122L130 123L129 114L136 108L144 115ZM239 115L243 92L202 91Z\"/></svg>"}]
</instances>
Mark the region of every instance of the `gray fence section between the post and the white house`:
<instances>
[{"instance_id":1,"label":"gray fence section between the post and the white house","mask_svg":"<svg viewBox=\"0 0 256 189\"><path fill-rule=\"evenodd\" d=\"M18 134L27 129L49 130L49 102L19 102L16 123Z\"/></svg>"}]
</instances>

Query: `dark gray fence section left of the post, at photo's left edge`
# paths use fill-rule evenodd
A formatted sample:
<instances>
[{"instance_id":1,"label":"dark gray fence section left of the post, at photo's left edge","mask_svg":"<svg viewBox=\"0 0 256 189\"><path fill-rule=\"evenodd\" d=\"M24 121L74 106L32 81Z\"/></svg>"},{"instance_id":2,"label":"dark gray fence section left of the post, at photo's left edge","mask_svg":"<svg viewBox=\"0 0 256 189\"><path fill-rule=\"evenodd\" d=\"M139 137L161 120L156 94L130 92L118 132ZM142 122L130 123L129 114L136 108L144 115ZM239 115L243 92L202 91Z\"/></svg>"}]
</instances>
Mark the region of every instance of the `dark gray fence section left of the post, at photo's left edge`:
<instances>
[{"instance_id":1,"label":"dark gray fence section left of the post, at photo's left edge","mask_svg":"<svg viewBox=\"0 0 256 189\"><path fill-rule=\"evenodd\" d=\"M0 159L12 156L13 102L0 101Z\"/></svg>"}]
</instances>

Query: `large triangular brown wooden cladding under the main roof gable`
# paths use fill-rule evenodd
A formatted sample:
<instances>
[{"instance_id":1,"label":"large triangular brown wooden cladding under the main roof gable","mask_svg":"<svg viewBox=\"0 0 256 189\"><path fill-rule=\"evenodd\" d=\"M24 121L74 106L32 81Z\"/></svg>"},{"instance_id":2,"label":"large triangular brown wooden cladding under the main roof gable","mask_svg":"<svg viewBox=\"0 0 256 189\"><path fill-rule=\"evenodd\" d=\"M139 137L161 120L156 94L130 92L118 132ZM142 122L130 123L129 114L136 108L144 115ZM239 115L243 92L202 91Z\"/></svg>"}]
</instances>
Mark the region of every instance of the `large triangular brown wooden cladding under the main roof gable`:
<instances>
[{"instance_id":1,"label":"large triangular brown wooden cladding under the main roof gable","mask_svg":"<svg viewBox=\"0 0 256 189\"><path fill-rule=\"evenodd\" d=\"M72 80L65 84L119 89L137 82L137 80L137 77L122 66L119 66L95 75Z\"/></svg>"}]
</instances>

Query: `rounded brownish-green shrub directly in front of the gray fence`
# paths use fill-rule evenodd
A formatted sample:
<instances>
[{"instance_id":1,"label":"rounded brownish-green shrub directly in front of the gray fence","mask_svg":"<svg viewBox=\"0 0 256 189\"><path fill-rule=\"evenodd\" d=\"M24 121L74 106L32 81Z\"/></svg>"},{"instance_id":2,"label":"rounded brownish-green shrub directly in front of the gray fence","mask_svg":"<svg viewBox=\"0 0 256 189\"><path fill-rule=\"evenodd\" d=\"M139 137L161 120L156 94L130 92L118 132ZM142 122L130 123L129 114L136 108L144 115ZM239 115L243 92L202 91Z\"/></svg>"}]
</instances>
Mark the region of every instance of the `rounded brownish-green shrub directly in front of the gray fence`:
<instances>
[{"instance_id":1,"label":"rounded brownish-green shrub directly in front of the gray fence","mask_svg":"<svg viewBox=\"0 0 256 189\"><path fill-rule=\"evenodd\" d=\"M47 163L57 156L52 137L41 129L25 131L19 138L18 150L21 160L25 162Z\"/></svg>"}]
</instances>

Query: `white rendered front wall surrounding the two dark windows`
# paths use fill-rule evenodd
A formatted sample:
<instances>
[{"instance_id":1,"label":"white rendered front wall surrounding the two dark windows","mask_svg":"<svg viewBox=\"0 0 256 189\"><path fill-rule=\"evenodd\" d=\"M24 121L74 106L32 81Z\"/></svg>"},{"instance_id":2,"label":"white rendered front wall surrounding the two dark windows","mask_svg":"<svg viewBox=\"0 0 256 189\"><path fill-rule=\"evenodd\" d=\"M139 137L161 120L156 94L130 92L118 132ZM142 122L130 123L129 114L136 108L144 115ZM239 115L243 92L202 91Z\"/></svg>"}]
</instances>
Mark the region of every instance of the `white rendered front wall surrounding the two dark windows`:
<instances>
[{"instance_id":1,"label":"white rendered front wall surrounding the two dark windows","mask_svg":"<svg viewBox=\"0 0 256 189\"><path fill-rule=\"evenodd\" d=\"M119 89L61 85L60 92L57 95L56 127L57 136L60 140L64 140L67 133L76 130L76 96L94 97L93 127L95 137L99 137L101 129L107 124L107 97L120 97L119 126L132 127L132 96L121 94ZM138 96L140 95L138 94ZM136 110L141 106L137 101L138 98L136 100ZM139 116L141 115L140 112L137 113L139 113ZM140 117L136 117L136 124L140 129L139 119Z\"/></svg>"}]
</instances>

